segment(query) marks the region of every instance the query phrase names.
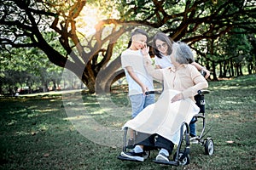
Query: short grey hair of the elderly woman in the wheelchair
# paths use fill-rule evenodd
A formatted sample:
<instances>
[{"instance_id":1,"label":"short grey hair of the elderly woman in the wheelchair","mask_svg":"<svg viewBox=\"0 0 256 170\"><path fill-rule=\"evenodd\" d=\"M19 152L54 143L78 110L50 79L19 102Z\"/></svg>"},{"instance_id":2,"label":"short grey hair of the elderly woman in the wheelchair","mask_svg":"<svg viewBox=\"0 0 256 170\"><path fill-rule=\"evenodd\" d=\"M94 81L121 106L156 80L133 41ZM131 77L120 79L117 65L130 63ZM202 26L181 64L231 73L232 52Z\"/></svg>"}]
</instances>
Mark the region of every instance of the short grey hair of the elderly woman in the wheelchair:
<instances>
[{"instance_id":1,"label":"short grey hair of the elderly woman in the wheelchair","mask_svg":"<svg viewBox=\"0 0 256 170\"><path fill-rule=\"evenodd\" d=\"M179 64L191 64L195 61L191 48L185 42L174 42L172 53Z\"/></svg>"}]
</instances>

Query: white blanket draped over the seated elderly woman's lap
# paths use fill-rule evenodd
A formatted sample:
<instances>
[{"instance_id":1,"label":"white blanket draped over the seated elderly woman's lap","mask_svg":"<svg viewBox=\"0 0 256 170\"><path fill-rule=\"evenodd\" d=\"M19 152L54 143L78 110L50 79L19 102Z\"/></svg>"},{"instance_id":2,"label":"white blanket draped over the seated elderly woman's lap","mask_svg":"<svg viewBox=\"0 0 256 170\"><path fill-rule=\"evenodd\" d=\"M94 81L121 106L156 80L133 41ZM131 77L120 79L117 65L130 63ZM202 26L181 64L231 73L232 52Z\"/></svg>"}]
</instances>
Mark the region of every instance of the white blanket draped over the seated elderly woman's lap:
<instances>
[{"instance_id":1,"label":"white blanket draped over the seated elderly woman's lap","mask_svg":"<svg viewBox=\"0 0 256 170\"><path fill-rule=\"evenodd\" d=\"M200 111L192 99L171 103L173 96L178 93L176 90L165 90L156 103L148 105L134 119L126 122L124 127L141 133L157 133L178 144L182 123L189 124Z\"/></svg>"}]
</instances>

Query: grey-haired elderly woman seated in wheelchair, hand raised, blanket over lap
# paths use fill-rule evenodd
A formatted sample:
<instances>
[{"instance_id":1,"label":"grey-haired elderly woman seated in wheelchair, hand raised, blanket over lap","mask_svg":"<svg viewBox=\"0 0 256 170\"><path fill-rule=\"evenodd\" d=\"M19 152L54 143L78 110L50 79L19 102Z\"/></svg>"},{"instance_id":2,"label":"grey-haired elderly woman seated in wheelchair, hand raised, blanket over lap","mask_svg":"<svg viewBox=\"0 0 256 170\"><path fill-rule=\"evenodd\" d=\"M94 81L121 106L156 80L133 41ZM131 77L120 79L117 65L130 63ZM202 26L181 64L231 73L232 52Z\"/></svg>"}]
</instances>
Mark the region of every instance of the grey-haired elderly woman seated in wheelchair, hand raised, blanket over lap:
<instances>
[{"instance_id":1,"label":"grey-haired elderly woman seated in wheelchair, hand raised, blanket over lap","mask_svg":"<svg viewBox=\"0 0 256 170\"><path fill-rule=\"evenodd\" d=\"M119 159L144 161L148 158L148 150L158 149L160 151L154 161L172 164L169 156L174 145L180 145L182 134L189 131L189 122L200 111L194 96L199 90L207 88L208 83L195 66L189 64L194 61L194 56L184 42L172 45L174 67L166 69L154 69L147 47L142 52L148 74L164 82L164 91L156 103L148 105L138 116L125 123L125 130L134 132L130 139L133 147L127 151L125 139L125 148Z\"/></svg>"}]
</instances>

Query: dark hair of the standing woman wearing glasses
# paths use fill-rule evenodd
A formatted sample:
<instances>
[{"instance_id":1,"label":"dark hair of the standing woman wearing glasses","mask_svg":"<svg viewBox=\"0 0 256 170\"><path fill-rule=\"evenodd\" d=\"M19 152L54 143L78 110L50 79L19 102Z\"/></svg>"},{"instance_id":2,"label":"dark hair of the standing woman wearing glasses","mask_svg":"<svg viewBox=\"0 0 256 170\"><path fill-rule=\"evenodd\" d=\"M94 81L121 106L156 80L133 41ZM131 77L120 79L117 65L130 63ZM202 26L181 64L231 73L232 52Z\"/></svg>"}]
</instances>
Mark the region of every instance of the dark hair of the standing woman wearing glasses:
<instances>
[{"instance_id":1,"label":"dark hair of the standing woman wearing glasses","mask_svg":"<svg viewBox=\"0 0 256 170\"><path fill-rule=\"evenodd\" d=\"M172 38L171 37L167 37L166 34L164 34L162 32L158 32L158 33L156 33L154 35L154 38L153 38L153 54L154 55L156 55L160 59L163 57L163 55L160 54L160 51L156 47L156 44L155 44L156 40L160 40L162 42L166 42L166 45L168 47L167 54L168 55L172 54L172 43L173 43Z\"/></svg>"}]
</instances>

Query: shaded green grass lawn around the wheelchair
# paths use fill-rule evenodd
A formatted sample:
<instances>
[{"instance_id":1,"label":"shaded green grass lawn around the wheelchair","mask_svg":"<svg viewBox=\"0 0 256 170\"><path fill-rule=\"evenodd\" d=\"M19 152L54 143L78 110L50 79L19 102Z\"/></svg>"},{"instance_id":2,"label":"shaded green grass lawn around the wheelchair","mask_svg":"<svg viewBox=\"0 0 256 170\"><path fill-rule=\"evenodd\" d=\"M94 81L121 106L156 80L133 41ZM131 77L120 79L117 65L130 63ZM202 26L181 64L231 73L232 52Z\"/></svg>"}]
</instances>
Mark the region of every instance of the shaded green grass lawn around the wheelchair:
<instances>
[{"instance_id":1,"label":"shaded green grass lawn around the wheelchair","mask_svg":"<svg viewBox=\"0 0 256 170\"><path fill-rule=\"evenodd\" d=\"M86 92L0 99L0 169L255 169L256 76L209 82L207 136L215 150L192 144L190 164L119 161L127 88L102 98ZM199 130L199 128L198 128ZM199 132L198 132L199 133Z\"/></svg>"}]
</instances>

